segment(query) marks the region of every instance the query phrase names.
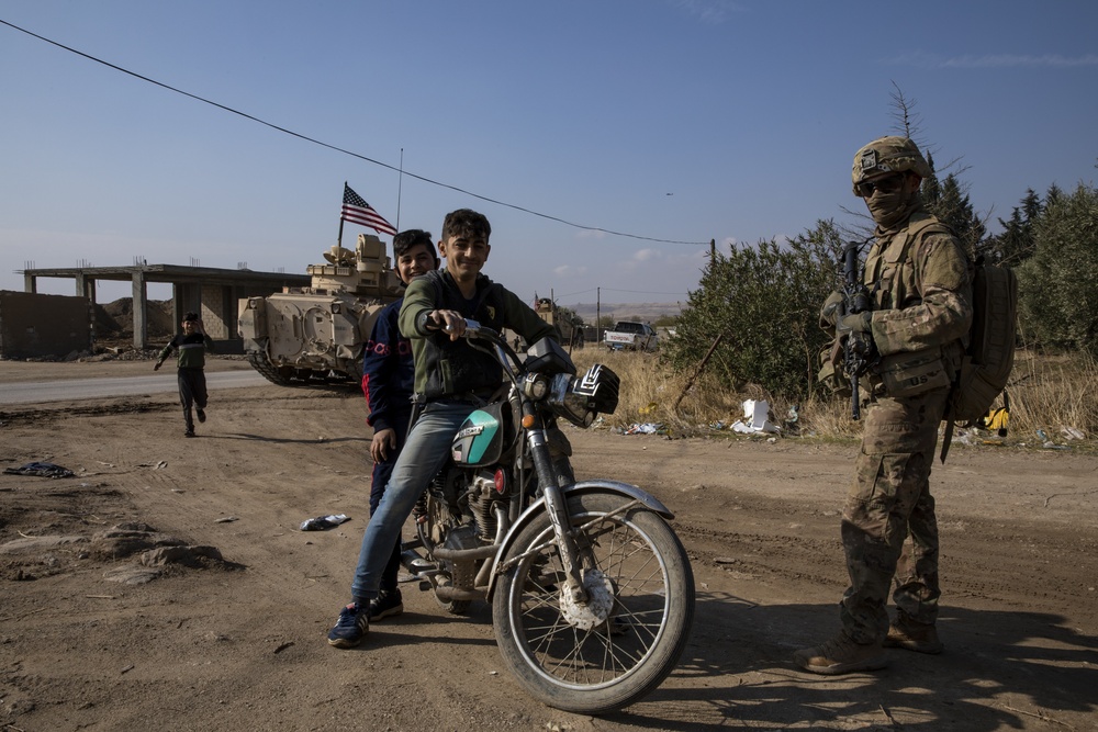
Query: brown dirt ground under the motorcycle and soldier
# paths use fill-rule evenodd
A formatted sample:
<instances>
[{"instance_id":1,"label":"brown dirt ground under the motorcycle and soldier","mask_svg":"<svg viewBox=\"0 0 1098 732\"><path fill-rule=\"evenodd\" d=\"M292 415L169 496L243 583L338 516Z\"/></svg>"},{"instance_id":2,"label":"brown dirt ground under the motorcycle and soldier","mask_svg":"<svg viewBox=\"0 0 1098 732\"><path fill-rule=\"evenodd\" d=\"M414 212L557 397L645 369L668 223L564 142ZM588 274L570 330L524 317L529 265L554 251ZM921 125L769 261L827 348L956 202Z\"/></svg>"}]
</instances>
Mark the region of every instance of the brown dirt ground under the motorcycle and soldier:
<instances>
[{"instance_id":1,"label":"brown dirt ground under the motorcycle and soldier","mask_svg":"<svg viewBox=\"0 0 1098 732\"><path fill-rule=\"evenodd\" d=\"M146 371L0 362L0 388ZM359 394L216 391L209 415L184 440L171 394L0 407L0 468L76 473L0 474L0 730L1098 729L1093 453L955 447L932 477L945 653L826 678L792 654L837 629L855 444L571 429L579 476L676 513L697 592L680 667L591 718L517 687L486 606L414 585L360 649L327 645L368 516Z\"/></svg>"}]
</instances>

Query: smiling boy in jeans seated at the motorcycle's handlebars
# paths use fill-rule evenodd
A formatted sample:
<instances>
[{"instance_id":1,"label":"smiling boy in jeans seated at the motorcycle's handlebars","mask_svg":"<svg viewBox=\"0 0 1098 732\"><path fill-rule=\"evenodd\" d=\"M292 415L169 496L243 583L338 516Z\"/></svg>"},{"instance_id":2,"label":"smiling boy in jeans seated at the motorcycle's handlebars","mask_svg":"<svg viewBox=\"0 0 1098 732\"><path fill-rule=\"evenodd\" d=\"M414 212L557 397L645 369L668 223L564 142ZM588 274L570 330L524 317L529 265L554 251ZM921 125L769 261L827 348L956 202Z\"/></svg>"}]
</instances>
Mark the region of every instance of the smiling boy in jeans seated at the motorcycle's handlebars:
<instances>
[{"instance_id":1,"label":"smiling boy in jeans seated at the motorcycle's handlebars","mask_svg":"<svg viewBox=\"0 0 1098 732\"><path fill-rule=\"evenodd\" d=\"M509 328L530 344L557 338L556 328L522 299L481 274L492 249L491 233L488 218L475 211L447 214L438 243L446 269L415 279L404 295L400 329L412 341L419 416L366 528L351 603L328 632L328 643L336 647L362 642L370 627L370 601L378 597L401 527L445 464L461 423L503 383L500 364L461 337L466 318L493 330Z\"/></svg>"}]
</instances>

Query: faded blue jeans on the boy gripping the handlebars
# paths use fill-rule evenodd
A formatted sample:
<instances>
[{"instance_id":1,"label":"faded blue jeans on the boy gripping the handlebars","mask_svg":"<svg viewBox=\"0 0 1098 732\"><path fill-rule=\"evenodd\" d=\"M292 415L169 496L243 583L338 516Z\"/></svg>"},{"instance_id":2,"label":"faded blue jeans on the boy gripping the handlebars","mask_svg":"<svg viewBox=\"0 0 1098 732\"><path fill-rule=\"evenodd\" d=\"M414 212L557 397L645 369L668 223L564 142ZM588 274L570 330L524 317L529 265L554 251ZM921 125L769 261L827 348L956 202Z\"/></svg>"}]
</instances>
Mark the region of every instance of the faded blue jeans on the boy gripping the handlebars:
<instances>
[{"instance_id":1,"label":"faded blue jeans on the boy gripping the handlebars","mask_svg":"<svg viewBox=\"0 0 1098 732\"><path fill-rule=\"evenodd\" d=\"M416 419L381 503L366 527L350 586L355 601L361 604L378 596L381 576L404 521L412 515L430 478L446 464L453 436L474 408L471 402L430 402Z\"/></svg>"}]
</instances>

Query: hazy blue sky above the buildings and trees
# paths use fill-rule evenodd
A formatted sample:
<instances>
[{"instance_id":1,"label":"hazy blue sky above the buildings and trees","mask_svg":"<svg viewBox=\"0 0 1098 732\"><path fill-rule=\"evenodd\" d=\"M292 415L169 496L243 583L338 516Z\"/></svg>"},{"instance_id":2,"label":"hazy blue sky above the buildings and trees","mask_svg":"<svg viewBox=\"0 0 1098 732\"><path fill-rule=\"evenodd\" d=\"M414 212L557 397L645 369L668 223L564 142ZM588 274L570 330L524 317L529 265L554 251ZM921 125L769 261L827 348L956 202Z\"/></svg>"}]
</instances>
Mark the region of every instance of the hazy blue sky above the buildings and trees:
<instances>
[{"instance_id":1,"label":"hazy blue sky above the buildings and trees","mask_svg":"<svg viewBox=\"0 0 1098 732\"><path fill-rule=\"evenodd\" d=\"M436 238L446 212L483 212L485 273L524 297L681 301L709 239L847 221L897 88L993 230L1098 162L1090 0L4 0L0 20L355 154L0 25L3 290L25 262L304 273L346 180Z\"/></svg>"}]
</instances>

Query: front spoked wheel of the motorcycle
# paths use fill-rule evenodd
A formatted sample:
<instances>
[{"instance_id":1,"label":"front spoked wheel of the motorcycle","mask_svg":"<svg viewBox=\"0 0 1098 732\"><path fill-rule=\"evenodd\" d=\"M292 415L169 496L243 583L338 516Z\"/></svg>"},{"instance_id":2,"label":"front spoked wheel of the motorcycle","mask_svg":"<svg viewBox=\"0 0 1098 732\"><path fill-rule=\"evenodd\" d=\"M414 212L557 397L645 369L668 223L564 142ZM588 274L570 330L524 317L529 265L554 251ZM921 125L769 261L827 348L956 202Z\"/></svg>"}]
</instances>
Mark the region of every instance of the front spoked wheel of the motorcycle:
<instances>
[{"instance_id":1,"label":"front spoked wheel of the motorcycle","mask_svg":"<svg viewBox=\"0 0 1098 732\"><path fill-rule=\"evenodd\" d=\"M574 601L549 517L536 517L507 560L492 618L504 661L535 698L565 711L620 709L658 687L686 645L694 576L657 514L629 498L569 498L587 599Z\"/></svg>"}]
</instances>

